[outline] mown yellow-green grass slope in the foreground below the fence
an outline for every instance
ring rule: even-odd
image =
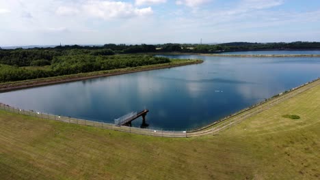
[[[139,136],[5,111],[0,124],[0,179],[320,178],[320,86],[216,136]]]

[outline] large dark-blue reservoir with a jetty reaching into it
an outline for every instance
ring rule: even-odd
[[[167,57],[204,63],[0,93],[0,102],[109,123],[146,106],[150,127],[185,129],[320,76],[320,58]]]

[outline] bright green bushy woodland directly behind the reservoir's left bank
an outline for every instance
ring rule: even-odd
[[[113,70],[124,67],[137,67],[169,62],[170,59],[168,58],[153,57],[151,55],[65,55],[53,57],[51,66],[44,69],[0,64],[0,82],[63,76],[82,72]]]

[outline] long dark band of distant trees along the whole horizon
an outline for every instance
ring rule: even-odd
[[[250,43],[231,42],[225,44],[158,44],[126,45],[105,44],[104,46],[56,46],[55,48],[0,49],[0,63],[21,66],[50,65],[54,57],[69,55],[115,55],[147,52],[202,52],[217,53],[239,50],[297,50],[320,49],[320,42]]]

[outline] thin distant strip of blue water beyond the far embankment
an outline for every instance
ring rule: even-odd
[[[257,50],[221,52],[224,55],[320,55],[320,50]]]

